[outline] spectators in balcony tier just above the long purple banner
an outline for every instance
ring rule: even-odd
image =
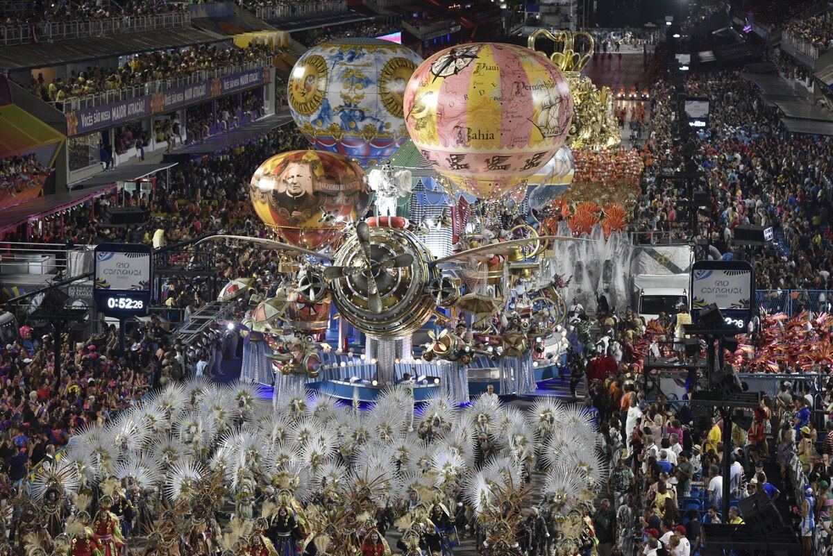
[[[47,82],[42,73],[33,77],[28,90],[46,102],[66,102],[95,94],[115,92],[129,87],[190,77],[197,72],[211,72],[272,57],[273,47],[251,44],[246,48],[197,47],[137,54],[118,67],[87,66],[72,70],[67,77]]]

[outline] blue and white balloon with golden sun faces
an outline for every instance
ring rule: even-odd
[[[378,164],[408,139],[402,97],[421,62],[395,42],[323,42],[292,68],[287,85],[292,118],[314,148],[355,158],[363,167]]]

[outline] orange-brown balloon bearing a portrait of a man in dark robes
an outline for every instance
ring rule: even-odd
[[[327,151],[288,151],[263,162],[249,184],[264,224],[295,246],[332,243],[348,221],[364,216],[370,187],[361,166]]]

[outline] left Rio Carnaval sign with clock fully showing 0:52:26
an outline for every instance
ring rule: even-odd
[[[147,315],[151,302],[151,246],[102,243],[96,247],[93,298],[97,310],[123,320]]]

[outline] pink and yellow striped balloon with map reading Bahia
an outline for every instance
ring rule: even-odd
[[[442,176],[481,198],[515,188],[566,139],[570,86],[544,55],[511,44],[437,52],[405,92],[405,122]]]

